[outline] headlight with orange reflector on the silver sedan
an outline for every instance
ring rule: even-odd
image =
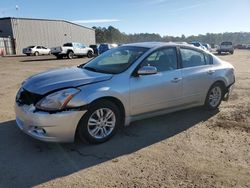
[[[36,108],[46,111],[62,110],[69,107],[68,103],[79,92],[80,90],[75,88],[57,91],[41,99],[36,104]]]

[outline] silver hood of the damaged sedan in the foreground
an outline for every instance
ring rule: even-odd
[[[61,68],[29,77],[24,81],[23,88],[44,95],[53,90],[101,82],[111,77],[112,74],[92,72],[78,67]]]

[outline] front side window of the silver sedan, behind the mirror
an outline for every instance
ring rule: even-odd
[[[177,55],[175,48],[160,49],[150,54],[141,64],[154,66],[158,72],[177,69]]]

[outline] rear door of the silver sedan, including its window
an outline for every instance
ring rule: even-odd
[[[183,78],[183,103],[200,103],[205,100],[213,83],[215,70],[210,55],[192,48],[180,47]]]

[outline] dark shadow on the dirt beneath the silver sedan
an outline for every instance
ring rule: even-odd
[[[119,164],[117,157],[173,137],[216,113],[193,108],[137,121],[99,145],[40,142],[22,133],[14,120],[2,122],[0,187],[31,187],[106,161]]]

